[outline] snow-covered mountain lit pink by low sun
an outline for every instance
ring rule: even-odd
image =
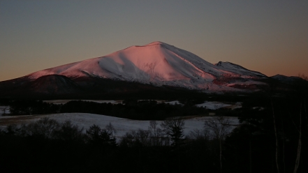
[[[162,42],[131,46],[104,57],[31,73],[25,78],[37,80],[45,75],[64,75],[71,80],[96,77],[207,92],[243,91],[243,86],[265,84],[258,80],[266,77],[234,63],[209,63],[196,54]]]

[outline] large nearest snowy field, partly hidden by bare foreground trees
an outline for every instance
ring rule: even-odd
[[[47,114],[47,115],[25,115],[25,116],[0,116],[0,128],[6,128],[9,124],[22,124],[22,123],[31,123],[41,119],[43,117],[49,117],[50,119],[55,119],[60,123],[63,123],[66,120],[71,121],[73,124],[76,124],[80,127],[83,127],[85,130],[91,125],[96,124],[101,128],[105,128],[106,125],[112,123],[112,126],[117,130],[117,137],[122,137],[126,132],[131,130],[148,130],[149,121],[138,121],[131,119],[122,119],[113,116],[105,116],[100,114],[86,114],[86,113],[64,113],[64,114]],[[228,117],[230,124],[237,125],[239,122],[237,117]],[[212,116],[203,116],[203,117],[192,117],[185,120],[185,129],[184,134],[189,135],[189,132],[198,128],[202,130],[204,126],[204,121],[213,121]],[[161,124],[162,121],[157,121],[158,124]],[[231,126],[234,128],[235,126]]]

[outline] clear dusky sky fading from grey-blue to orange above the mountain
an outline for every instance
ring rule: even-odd
[[[308,1],[0,1],[0,81],[156,40],[210,63],[308,75]]]

